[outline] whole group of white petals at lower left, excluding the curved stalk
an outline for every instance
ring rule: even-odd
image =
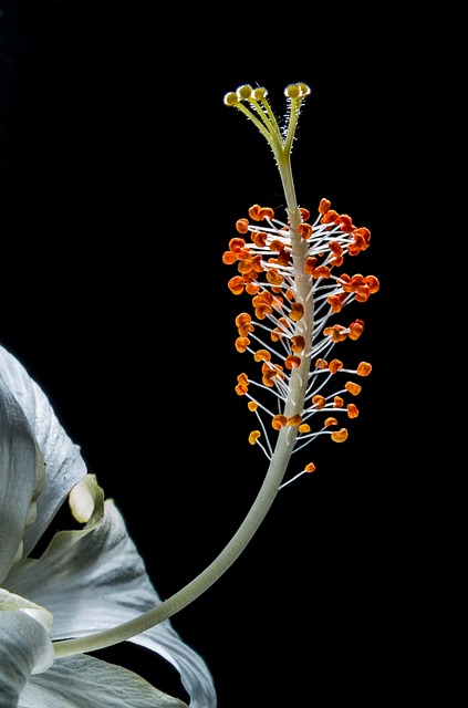
[[[77,528],[34,548],[63,502]],[[132,621],[160,604],[112,500],[46,396],[0,346],[0,708],[187,706],[90,654],[54,659],[53,642]],[[190,708],[216,708],[211,675],[166,620],[131,642],[180,674]]]

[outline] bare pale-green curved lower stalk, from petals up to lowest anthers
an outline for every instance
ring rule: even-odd
[[[135,620],[91,636],[54,642],[55,658],[96,652],[129,639],[176,614],[208,590],[239,558],[273,503],[292,452],[293,440],[288,433],[291,430],[283,429],[280,433],[267,477],[250,511],[236,534],[210,565],[171,597]]]

